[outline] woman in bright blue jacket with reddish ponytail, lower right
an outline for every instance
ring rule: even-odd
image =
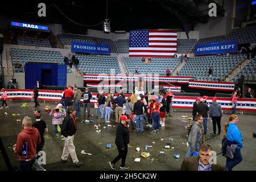
[[[242,134],[241,131],[237,127],[239,119],[236,114],[232,114],[229,117],[229,121],[225,123],[224,129],[224,139],[226,138],[226,144],[231,146],[232,144],[237,144],[236,150],[234,151],[233,159],[227,157],[226,158],[226,170],[232,171],[234,166],[241,163],[242,161],[242,154],[241,148],[243,147],[242,142]]]

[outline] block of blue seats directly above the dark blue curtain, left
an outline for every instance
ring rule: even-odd
[[[36,62],[36,63],[58,63],[64,64],[60,51],[45,51],[34,49],[11,48],[13,63]]]

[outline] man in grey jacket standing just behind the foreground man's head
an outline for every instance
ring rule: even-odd
[[[202,129],[203,116],[201,114],[196,115],[196,122],[193,124],[188,136],[188,152],[186,157],[192,156],[195,152],[199,152],[199,148],[202,142]]]

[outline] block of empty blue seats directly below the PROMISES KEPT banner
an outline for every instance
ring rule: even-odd
[[[193,76],[199,81],[223,81],[245,57],[245,55],[190,57],[179,73],[180,76]],[[210,67],[213,70],[213,77],[208,76]]]

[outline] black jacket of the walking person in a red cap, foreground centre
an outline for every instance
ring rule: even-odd
[[[121,122],[118,123],[115,144],[118,148],[125,148],[129,142],[129,130]]]

